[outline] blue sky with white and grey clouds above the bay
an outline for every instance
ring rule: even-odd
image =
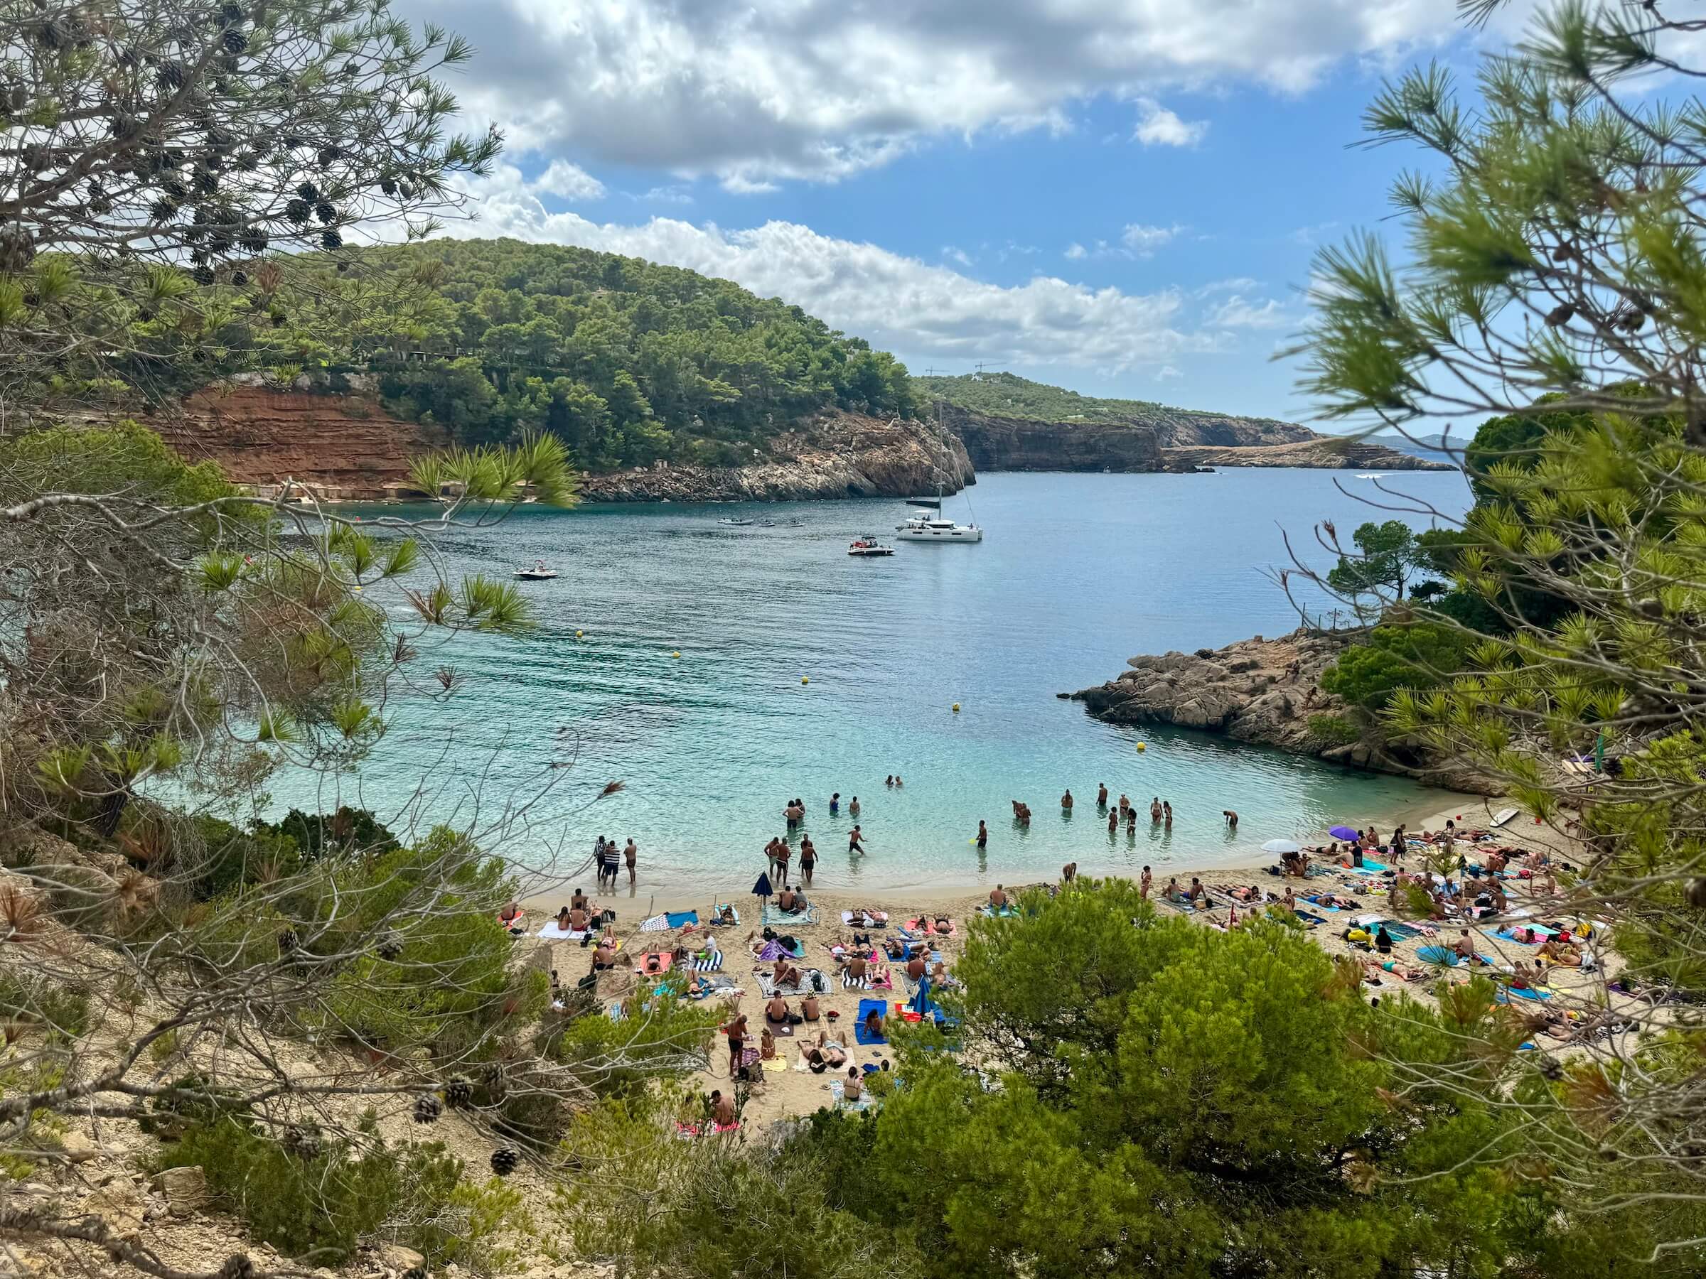
[[[781,297],[914,373],[1309,421],[1310,261],[1425,160],[1385,77],[1472,73],[1454,0],[396,0],[507,148],[457,235]],[[1384,223],[1384,227],[1382,227]]]

